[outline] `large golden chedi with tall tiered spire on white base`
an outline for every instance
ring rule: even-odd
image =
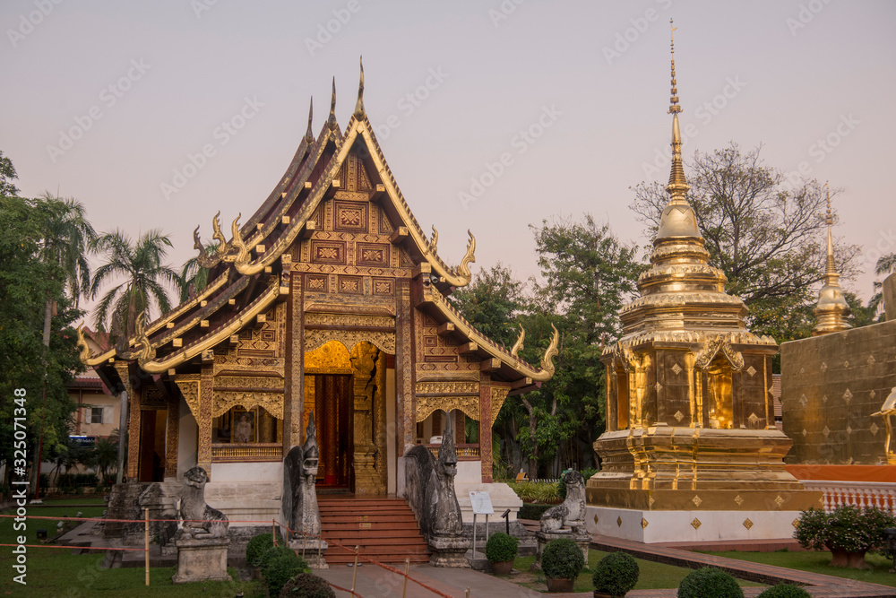
[[[788,538],[820,494],[784,469],[778,346],[746,329],[747,308],[709,264],[685,197],[674,54],[671,96],[669,201],[641,297],[622,308],[623,337],[601,358],[607,431],[594,443],[602,469],[587,482],[586,524],[641,542]]]

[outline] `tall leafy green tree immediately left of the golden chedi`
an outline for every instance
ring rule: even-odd
[[[555,473],[594,463],[591,443],[606,416],[602,344],[622,334],[618,311],[635,297],[645,266],[637,247],[587,214],[530,228],[544,282],[535,285],[527,319],[536,327],[553,323],[561,334],[554,377],[521,398],[529,414],[521,434],[528,434],[532,477],[538,460],[553,460]]]

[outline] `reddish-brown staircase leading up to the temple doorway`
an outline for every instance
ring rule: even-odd
[[[317,496],[321,534],[331,542],[324,558],[331,566],[354,561],[354,553],[334,546],[335,540],[383,563],[429,562],[429,550],[413,511],[401,498]]]

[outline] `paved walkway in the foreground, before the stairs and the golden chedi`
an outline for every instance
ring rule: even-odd
[[[605,536],[594,536],[591,547],[597,550],[625,550],[639,559],[652,560],[669,565],[686,568],[701,568],[704,566],[718,567],[736,575],[737,577],[773,585],[780,581],[793,581],[806,585],[806,590],[814,598],[896,598],[896,588],[885,585],[867,584],[865,582],[843,579],[835,576],[825,576],[814,573],[805,573],[788,568],[751,563],[745,560],[726,559],[706,554],[698,554],[689,550],[680,550],[655,544],[642,544]],[[403,568],[398,566],[398,568]],[[344,588],[352,586],[352,576],[355,570],[350,567],[338,566],[319,572],[327,581]],[[433,568],[428,565],[412,565],[410,576],[435,590],[452,596],[463,598],[467,588],[470,588],[470,596],[477,598],[535,598],[542,596],[535,590],[530,590],[512,581],[490,576],[472,569]],[[372,564],[365,564],[358,568],[355,588],[364,598],[383,597],[392,598],[401,596],[404,578]],[[754,598],[760,594],[762,588],[744,588],[746,598]],[[638,590],[626,594],[628,598],[675,598],[677,590]],[[336,593],[337,596],[349,596],[348,592]],[[424,587],[408,582],[408,598],[433,598],[438,594]],[[577,596],[584,598],[591,596],[591,592],[581,594],[550,594],[560,598]]]

